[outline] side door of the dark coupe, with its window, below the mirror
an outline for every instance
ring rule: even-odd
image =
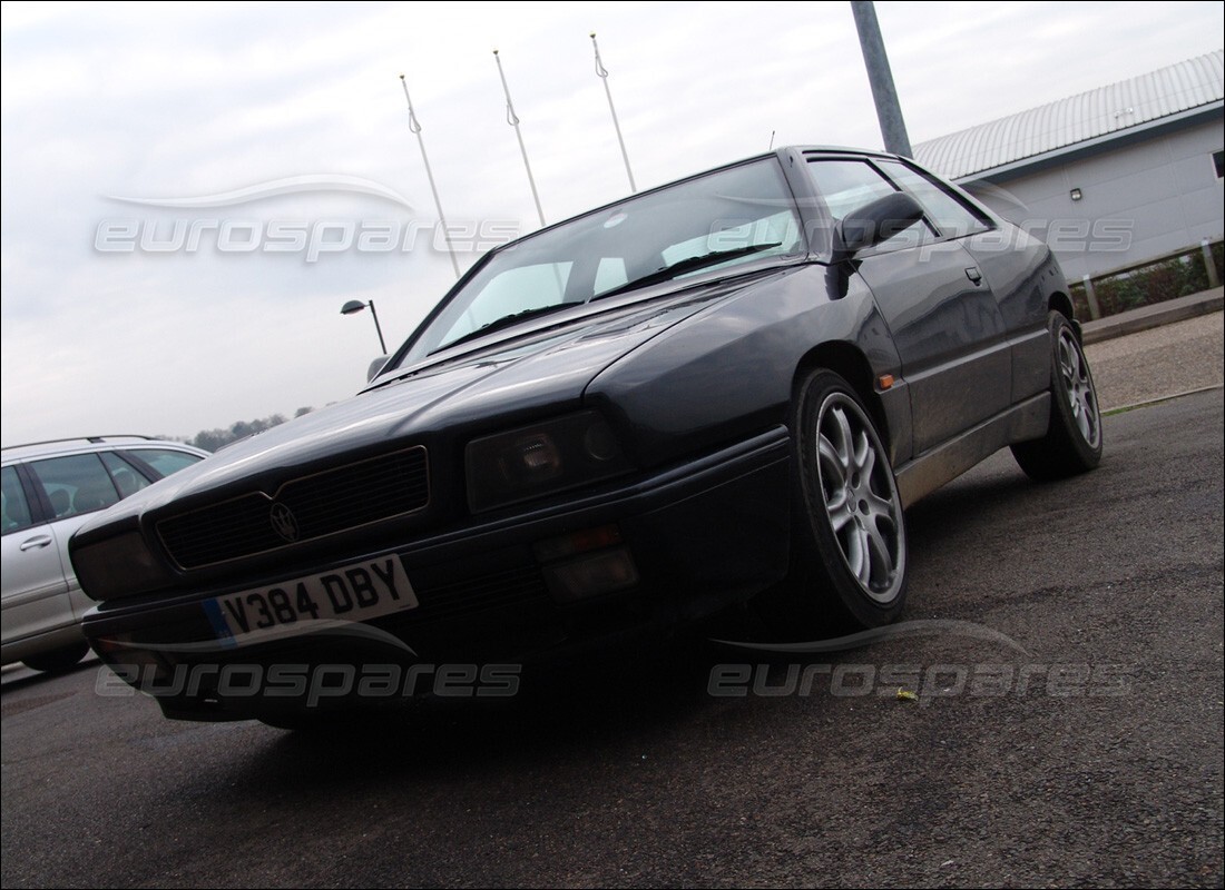
[[[903,189],[884,175],[887,163],[818,158],[809,162],[809,173],[838,222]],[[1003,411],[1012,400],[1012,359],[996,295],[960,244],[962,233],[942,225],[929,203],[920,200],[922,224],[851,261],[872,290],[902,359],[916,455]]]

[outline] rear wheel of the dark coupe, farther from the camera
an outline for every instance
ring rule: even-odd
[[[1030,479],[1050,480],[1091,470],[1101,462],[1101,411],[1089,361],[1072,322],[1051,312],[1051,421],[1046,435],[1012,447]]]

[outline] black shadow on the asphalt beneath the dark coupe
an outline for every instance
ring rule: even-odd
[[[687,638],[582,666],[527,670],[511,699],[414,699],[393,712],[350,714],[306,731],[252,728],[252,739],[258,732],[267,743],[232,764],[229,781],[209,793],[255,796],[279,807],[381,793],[388,785],[500,782],[554,769],[577,776],[646,760],[646,752],[679,743],[734,748],[795,709],[823,722],[846,703],[822,690],[822,679],[813,694],[758,694],[755,687],[720,695],[712,692],[717,671],[733,665],[752,672],[751,682],[779,689],[789,672],[820,665],[817,676],[828,687],[831,671],[842,665],[898,660],[904,651],[908,644],[884,641],[845,651],[769,653]]]

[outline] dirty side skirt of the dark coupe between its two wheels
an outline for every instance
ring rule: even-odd
[[[1051,394],[1039,393],[920,454],[897,470],[902,506],[909,507],[1005,446],[1040,438],[1050,419]]]

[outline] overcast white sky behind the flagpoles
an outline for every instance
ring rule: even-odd
[[[1219,49],[1223,10],[877,2],[913,143]],[[491,50],[556,222],[628,191],[590,31],[639,189],[766,151],[772,133],[882,144],[842,0],[5,2],[4,443],[190,437],[354,393],[377,339],[369,312],[341,305],[372,299],[391,345],[454,278],[430,247],[398,75],[448,222],[527,233],[537,214]],[[219,206],[116,200],[283,180],[290,193]],[[175,225],[197,229],[195,249],[175,247]],[[359,244],[397,228],[393,250]],[[348,235],[311,261],[314,237]]]

